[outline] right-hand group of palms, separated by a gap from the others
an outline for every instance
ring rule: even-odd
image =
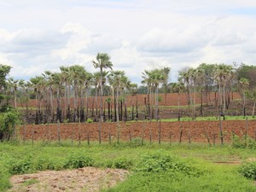
[[[241,92],[243,115],[246,116],[246,98],[253,100],[253,93],[256,90],[255,87],[249,90],[249,79],[238,78],[239,70],[240,68],[236,69],[231,65],[206,63],[196,68],[185,68],[179,72],[178,81],[172,84],[172,90],[178,94],[186,92],[191,117],[195,119],[196,97],[201,97],[201,115],[203,115],[203,102],[206,102],[207,105],[213,102],[216,115],[224,117],[225,110],[230,107],[232,93],[236,88]],[[214,101],[211,101],[211,92],[215,92]]]

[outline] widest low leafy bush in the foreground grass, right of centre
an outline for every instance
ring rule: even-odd
[[[202,171],[196,166],[167,154],[149,154],[137,165],[137,172],[181,172],[199,176]]]

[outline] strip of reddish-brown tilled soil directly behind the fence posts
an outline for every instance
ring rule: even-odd
[[[224,132],[224,143],[229,143],[232,138],[232,131],[238,136],[243,136],[246,132],[246,122],[242,120],[222,121]],[[195,122],[129,122],[120,123],[119,138],[121,141],[129,141],[131,138],[144,137],[149,141],[150,132],[152,141],[158,142],[159,130],[161,141],[178,142],[183,129],[182,142],[189,143],[207,143],[207,137],[210,142],[220,143],[219,137],[219,122],[218,121],[195,121]],[[26,140],[51,140],[58,139],[58,125],[26,125],[20,127],[20,137]],[[248,121],[248,136],[255,137],[256,121]],[[81,140],[86,142],[88,137],[90,141],[98,141],[98,124],[97,123],[81,123],[80,124]],[[207,136],[206,136],[207,134]],[[79,124],[61,124],[60,125],[60,138],[61,140],[79,139]],[[112,141],[117,138],[117,123],[102,123],[102,141],[108,142],[109,137]]]

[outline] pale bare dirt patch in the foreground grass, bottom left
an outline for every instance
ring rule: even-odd
[[[128,171],[84,167],[75,170],[44,171],[10,178],[13,192],[99,191],[123,181]]]

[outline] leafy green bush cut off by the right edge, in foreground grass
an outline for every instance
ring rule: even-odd
[[[256,180],[256,161],[243,163],[239,168],[239,172],[244,177]]]

